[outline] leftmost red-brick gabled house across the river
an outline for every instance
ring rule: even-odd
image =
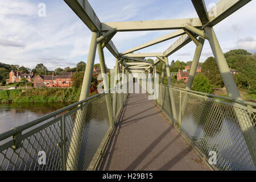
[[[9,73],[9,79],[6,80],[6,84],[14,83],[14,82],[20,82],[22,80],[22,78],[26,77],[26,80],[31,82],[32,78],[34,78],[34,73],[30,72],[29,74],[27,73],[23,73],[20,71],[11,71]]]

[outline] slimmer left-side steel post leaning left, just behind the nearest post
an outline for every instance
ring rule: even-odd
[[[97,49],[98,49],[98,59],[100,59],[100,66],[101,66],[101,73],[106,74],[106,64],[105,64],[105,57],[104,57],[104,52],[101,47],[101,43],[97,44]],[[109,82],[108,82],[108,77],[102,77],[102,81],[104,84],[104,90],[105,92],[108,92],[109,90]],[[113,111],[112,111],[112,103],[111,103],[111,96],[110,93],[106,93],[106,106],[108,109],[108,115],[109,115],[109,123],[110,123],[110,128],[113,127]]]

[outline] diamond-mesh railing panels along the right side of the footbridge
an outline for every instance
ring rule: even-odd
[[[212,94],[159,86],[155,104],[210,165],[219,170],[256,170],[255,104]],[[174,103],[171,104],[171,94]],[[174,109],[176,116],[174,117]],[[210,153],[213,151],[213,153]],[[210,157],[216,154],[216,160]]]

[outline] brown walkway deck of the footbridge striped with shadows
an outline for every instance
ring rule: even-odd
[[[100,170],[209,170],[146,94],[130,94]]]

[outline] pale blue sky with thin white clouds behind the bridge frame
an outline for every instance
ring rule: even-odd
[[[217,3],[205,0],[207,9]],[[45,16],[39,16],[46,5]],[[198,18],[190,0],[89,0],[101,22]],[[242,48],[256,52],[256,1],[251,1],[214,26],[223,52]],[[126,51],[175,30],[117,32],[112,39],[119,52]],[[49,70],[76,67],[88,56],[92,32],[63,0],[0,0],[0,62],[35,68],[43,63]],[[136,52],[164,52],[177,38]],[[191,61],[193,42],[168,57]],[[108,68],[115,57],[104,48]],[[200,62],[213,56],[206,40]],[[154,57],[152,59],[155,60]],[[99,63],[96,53],[95,63]]]

